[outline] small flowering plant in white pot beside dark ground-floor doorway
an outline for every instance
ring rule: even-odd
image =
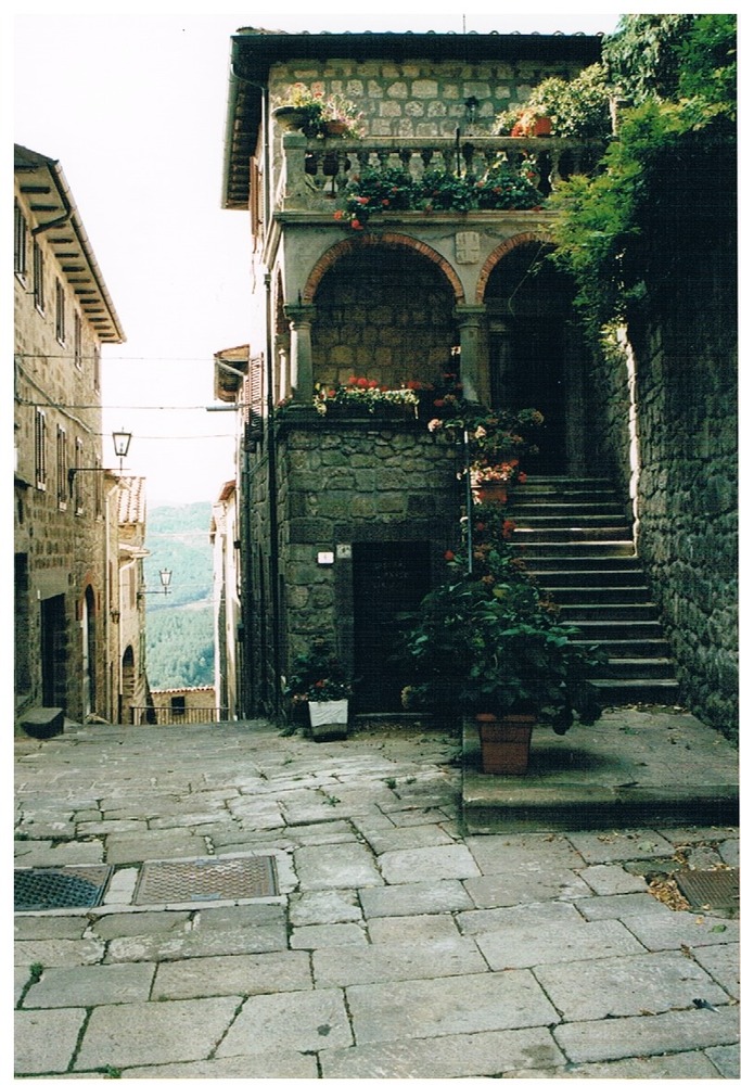
[[[316,640],[308,652],[293,662],[284,692],[294,706],[308,705],[315,739],[347,735],[352,682],[328,641]]]

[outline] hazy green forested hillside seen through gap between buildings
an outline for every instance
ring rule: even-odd
[[[152,689],[214,681],[210,518],[207,501],[148,510],[146,673]],[[162,592],[161,569],[173,571],[166,596],[156,593]]]

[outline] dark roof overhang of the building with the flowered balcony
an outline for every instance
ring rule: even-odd
[[[250,161],[259,138],[264,95],[270,68],[289,60],[354,61],[385,59],[394,62],[539,60],[546,63],[599,61],[602,35],[587,34],[284,34],[244,27],[232,35],[231,66],[225,133],[222,206],[246,208],[250,199]],[[267,105],[267,102],[265,103]]]

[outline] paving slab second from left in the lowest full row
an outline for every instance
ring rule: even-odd
[[[90,1014],[74,1069],[205,1059],[229,1027],[241,1001],[225,997],[98,1006]]]

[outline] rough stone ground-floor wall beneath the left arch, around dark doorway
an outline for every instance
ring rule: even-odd
[[[330,421],[311,409],[294,408],[280,422],[277,508],[283,674],[319,636],[335,643],[352,668],[354,544],[418,542],[420,552],[431,556],[433,576],[443,576],[445,551],[458,542],[457,455],[455,445],[433,439],[422,421]],[[257,702],[261,689],[273,680],[270,570],[267,551],[257,541],[268,537],[267,468],[263,458],[251,480],[248,560],[255,582],[256,650],[251,685]],[[268,625],[260,629],[259,621]],[[258,659],[264,653],[265,659]]]

